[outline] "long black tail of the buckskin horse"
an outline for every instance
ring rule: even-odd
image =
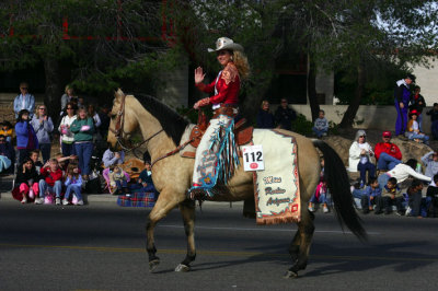
[[[324,155],[324,175],[341,226],[345,224],[360,241],[367,241],[367,232],[353,207],[349,179],[343,161],[324,141],[313,140],[313,144]]]

